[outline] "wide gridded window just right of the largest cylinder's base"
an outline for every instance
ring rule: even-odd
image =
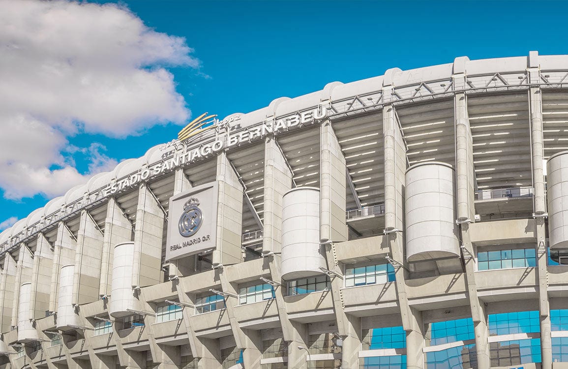
[[[478,270],[532,268],[536,267],[536,251],[534,248],[479,251],[477,261]]]

